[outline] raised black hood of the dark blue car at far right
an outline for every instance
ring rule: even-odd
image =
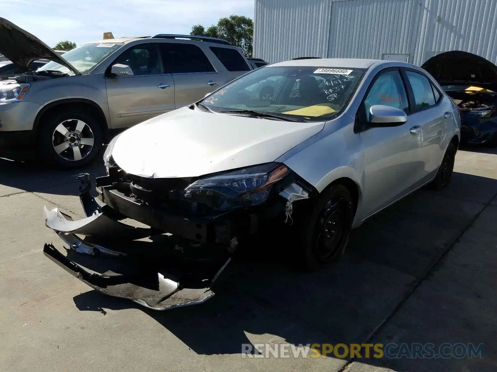
[[[424,62],[440,85],[478,86],[497,92],[497,66],[476,54],[451,51],[438,54]]]

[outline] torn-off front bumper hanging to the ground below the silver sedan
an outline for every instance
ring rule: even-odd
[[[101,293],[154,310],[201,304],[214,296],[211,287],[231,260],[225,248],[124,224],[122,215],[96,203],[83,177],[80,199],[86,218],[73,221],[58,209],[44,208],[47,227],[66,246],[63,251],[45,244],[47,257]]]

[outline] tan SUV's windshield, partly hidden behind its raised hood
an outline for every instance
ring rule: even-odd
[[[64,53],[62,58],[71,63],[82,74],[89,72],[96,64],[102,62],[105,57],[114,52],[116,49],[122,47],[122,43],[94,43],[84,44],[81,47],[70,50]],[[43,67],[38,68],[37,71],[44,70],[57,70],[65,72],[69,75],[74,75],[66,66],[57,62],[48,62]]]

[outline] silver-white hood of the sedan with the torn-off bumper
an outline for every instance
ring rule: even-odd
[[[184,107],[122,132],[112,157],[123,171],[141,177],[198,177],[272,162],[324,126]]]

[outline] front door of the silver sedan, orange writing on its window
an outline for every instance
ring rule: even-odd
[[[384,69],[375,76],[357,120],[369,122],[369,109],[373,105],[404,110],[408,121],[391,127],[368,127],[360,132],[364,159],[361,219],[407,194],[420,167],[420,131],[412,129],[415,122],[411,119],[406,85],[398,68]]]

